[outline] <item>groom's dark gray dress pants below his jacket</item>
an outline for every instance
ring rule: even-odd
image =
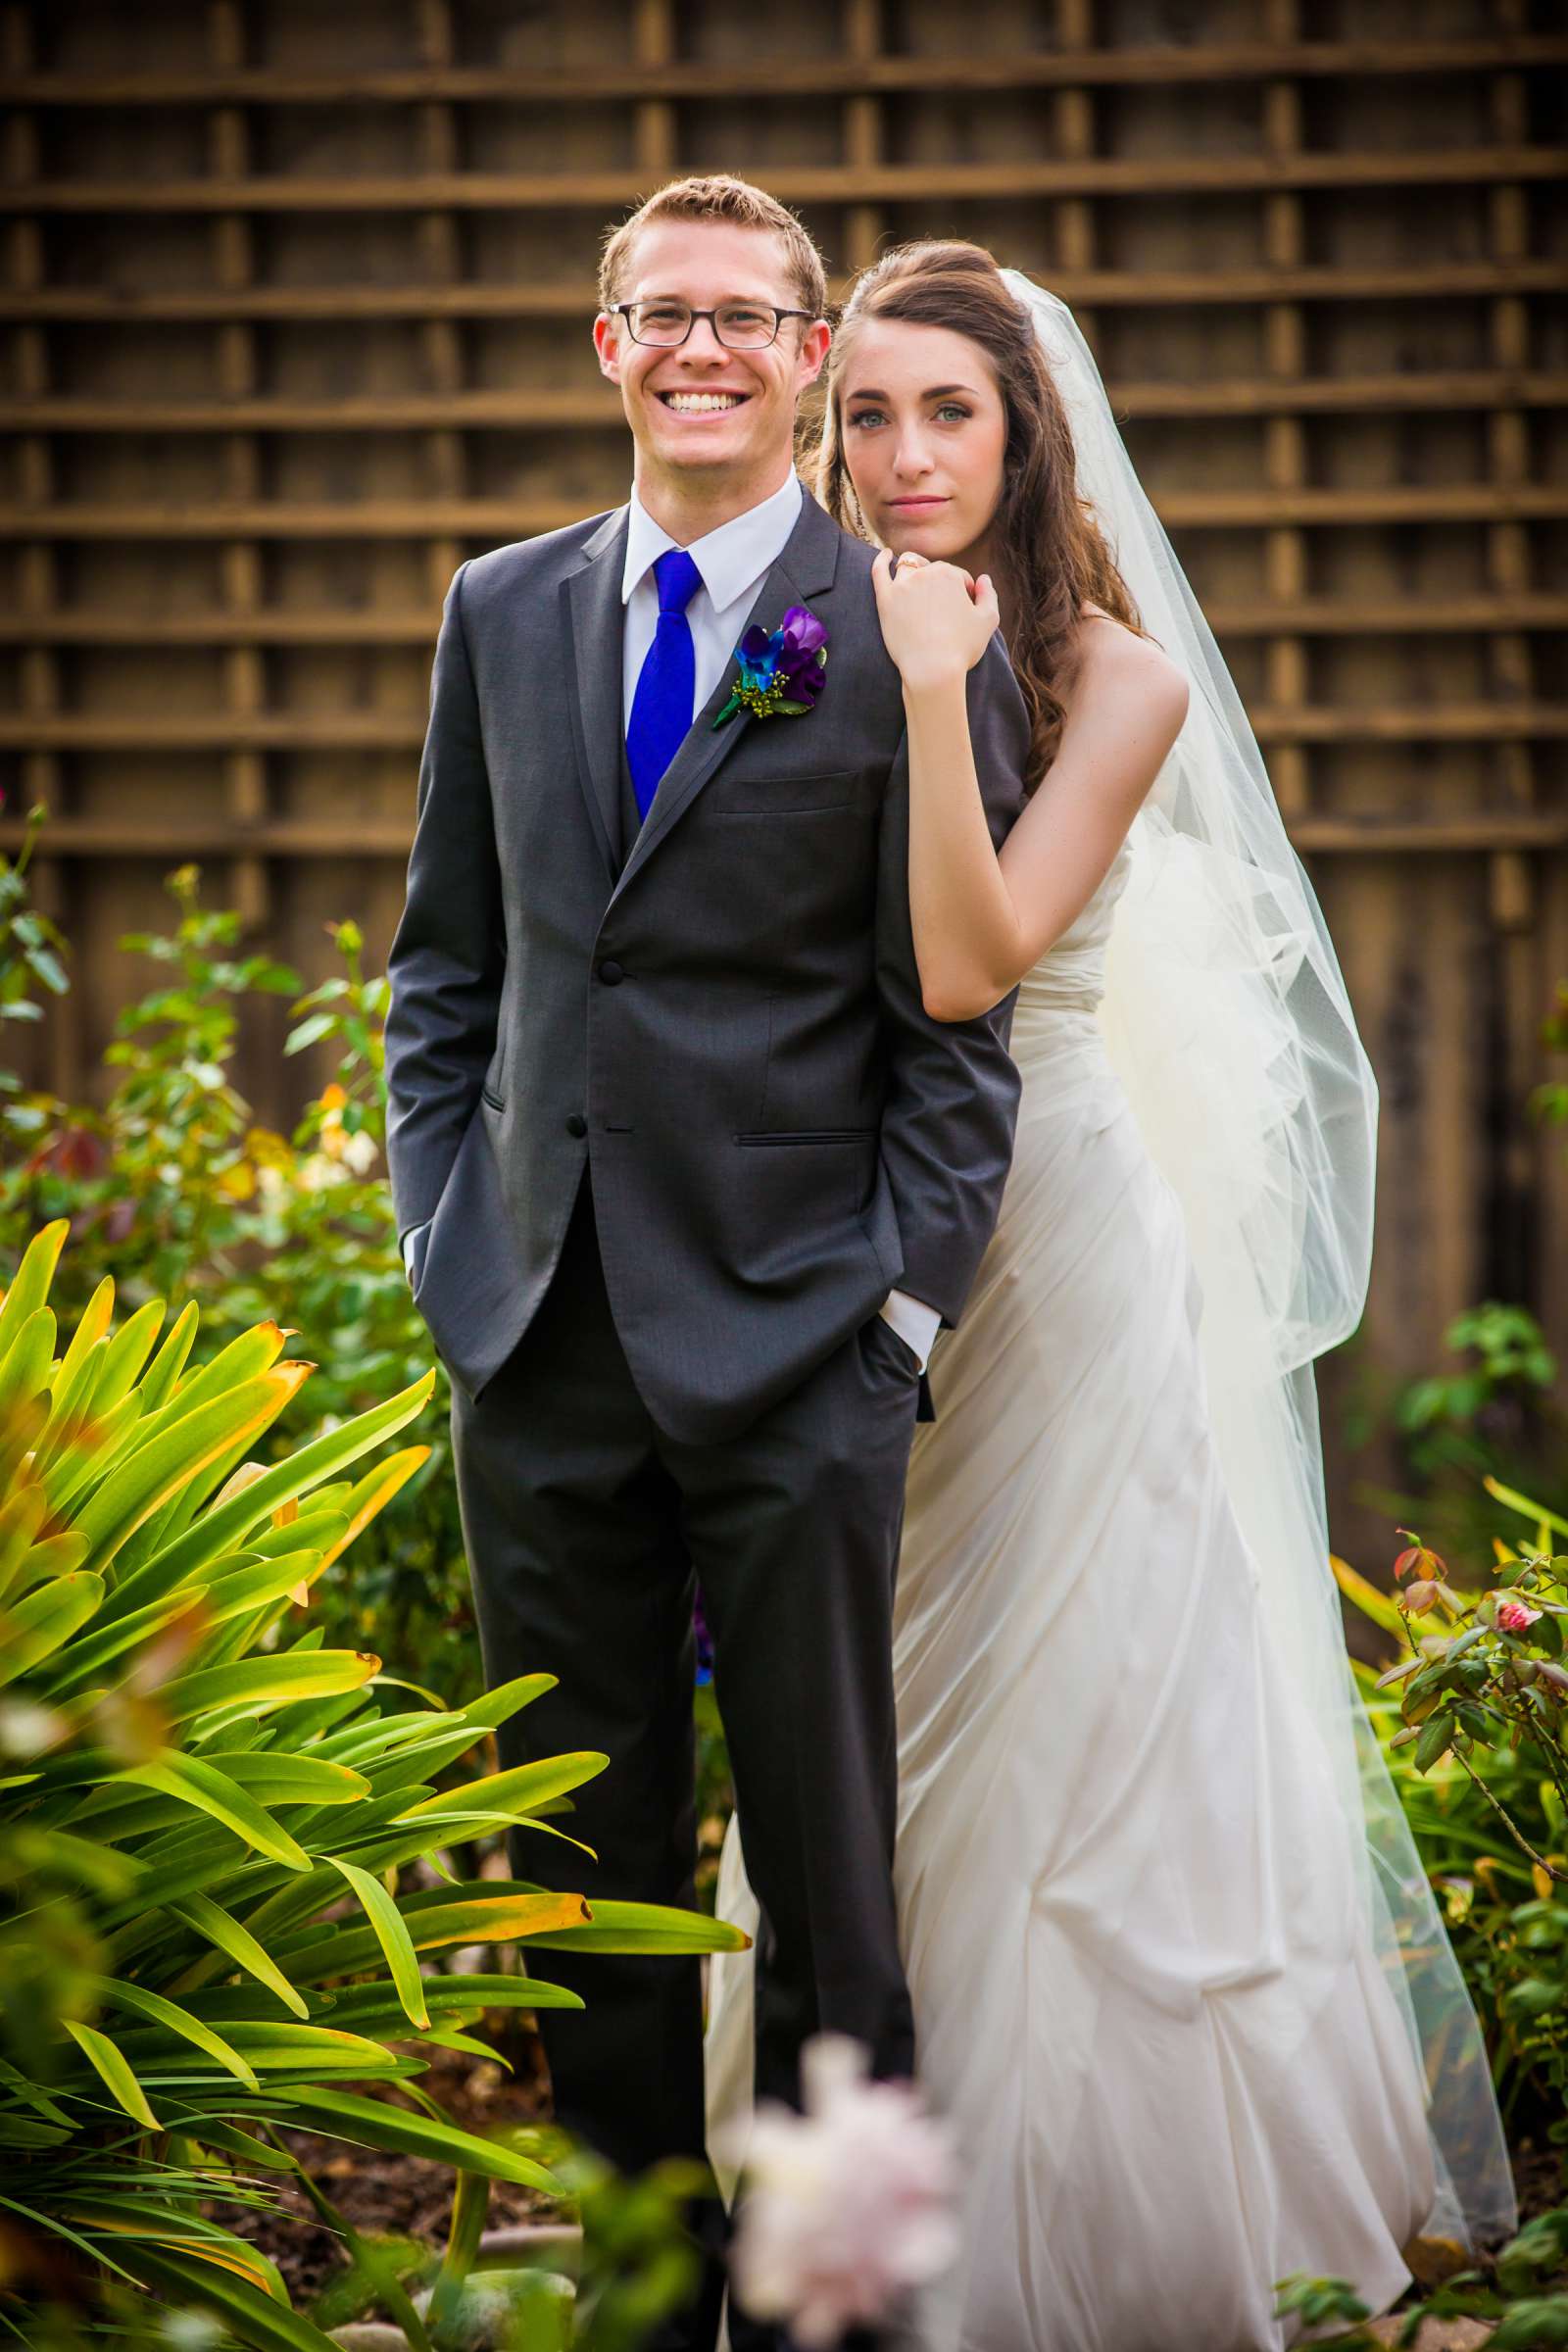
[[[679,1301],[672,1303],[679,1310]],[[498,1733],[503,1766],[602,1750],[517,1877],[642,1903],[693,1900],[693,1578],[762,1905],[757,2096],[799,2103],[799,2046],[865,2042],[914,2063],[893,1905],[891,1609],[917,1367],[872,1317],[741,1437],[665,1437],[609,1312],[588,1178],[538,1315],[451,1437],[484,1675],[557,1689]],[[585,2009],[543,2011],[557,2119],[623,2171],[703,2154],[696,1959],[541,1952]],[[712,2312],[672,2345],[703,2352]],[[731,2319],[736,2352],[778,2343]]]

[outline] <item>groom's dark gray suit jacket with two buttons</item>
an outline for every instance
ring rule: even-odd
[[[618,858],[625,510],[468,562],[447,595],[386,1025],[400,1237],[454,1378],[505,1362],[592,1171],[621,1345],[677,1439],[738,1435],[889,1289],[957,1322],[997,1221],[1011,997],[922,1009],[907,743],[872,553],[804,499],[755,621],[809,604],[806,717],[733,717],[733,663]],[[992,837],[1027,717],[969,689]]]

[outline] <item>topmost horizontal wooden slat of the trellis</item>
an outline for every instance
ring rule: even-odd
[[[1058,85],[1164,87],[1171,82],[1260,82],[1274,73],[1356,75],[1403,80],[1406,75],[1467,75],[1497,66],[1568,64],[1568,40],[1554,33],[1502,35],[1495,40],[1305,40],[1145,45],[1126,49],[1056,47],[997,54],[954,52],[945,56],[811,56],[757,54],[743,66],[710,66],[682,59],[668,66],[628,68],[616,56],[585,73],[581,68],[529,66],[433,66],[369,68],[364,73],[299,73],[252,68],[247,73],[33,73],[12,82],[19,106],[416,106],[428,99],[571,106],[614,99],[785,99],[842,96],[853,89],[985,94],[1051,89]]]

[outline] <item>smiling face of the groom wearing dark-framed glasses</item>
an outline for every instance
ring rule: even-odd
[[[651,221],[632,245],[621,301],[726,301],[797,310],[785,254],[766,228],[729,221]],[[733,480],[780,473],[795,447],[795,409],[827,358],[823,320],[788,318],[762,350],[726,350],[712,320],[691,322],[675,350],[635,343],[625,318],[595,320],[599,367],[621,386],[639,470]]]

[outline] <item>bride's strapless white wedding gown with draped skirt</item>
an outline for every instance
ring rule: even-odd
[[[1095,1016],[1126,868],[1020,988],[1001,1221],[910,1461],[896,1877],[964,2232],[919,2352],[1281,2347],[1276,2279],[1382,2310],[1434,2201],[1410,2030],[1220,1475],[1182,1214]],[[757,1917],[733,1823],[717,1907]],[[748,1957],[715,1969],[708,2082],[729,2190]]]

